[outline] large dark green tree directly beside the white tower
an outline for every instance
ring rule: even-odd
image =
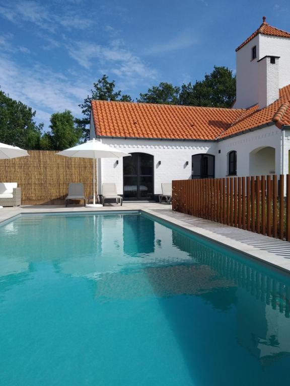
[[[210,74],[195,84],[183,84],[179,104],[184,106],[230,108],[236,97],[236,76],[227,67],[214,66]]]

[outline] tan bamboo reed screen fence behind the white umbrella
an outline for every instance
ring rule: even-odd
[[[92,160],[29,150],[29,157],[0,160],[0,182],[17,182],[23,205],[63,204],[69,182],[83,182],[92,194]]]

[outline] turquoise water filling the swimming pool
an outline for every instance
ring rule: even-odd
[[[0,226],[1,386],[290,380],[289,276],[138,214]]]

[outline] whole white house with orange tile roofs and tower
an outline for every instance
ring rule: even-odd
[[[124,200],[173,179],[289,173],[290,33],[261,26],[237,49],[232,109],[92,101],[91,138],[131,157],[98,163]]]

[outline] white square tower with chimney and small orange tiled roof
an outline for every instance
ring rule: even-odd
[[[234,108],[259,104],[262,109],[279,97],[279,88],[290,84],[290,33],[260,27],[237,49],[237,98]]]

